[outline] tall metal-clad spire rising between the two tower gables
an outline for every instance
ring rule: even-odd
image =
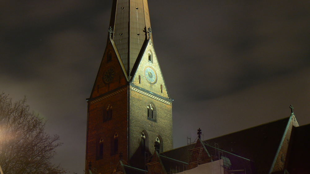
[[[149,37],[151,29],[147,0],[113,0],[110,26],[112,39],[121,56],[127,74],[130,74],[137,57]]]

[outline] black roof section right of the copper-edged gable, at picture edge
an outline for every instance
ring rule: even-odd
[[[290,174],[302,174],[309,172],[310,161],[310,124],[293,127],[288,154],[287,170]]]

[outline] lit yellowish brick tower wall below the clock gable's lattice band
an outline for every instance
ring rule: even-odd
[[[147,117],[147,106],[150,103],[154,104],[156,108],[156,121],[149,120]],[[162,138],[163,151],[173,148],[171,105],[164,104],[138,92],[130,91],[129,112],[129,158],[138,158],[140,152],[138,149],[143,130],[148,134],[148,149],[150,154],[154,152],[154,142],[158,135]]]

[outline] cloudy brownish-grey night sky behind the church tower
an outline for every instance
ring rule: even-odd
[[[5,1],[0,91],[28,98],[64,144],[53,160],[83,173],[86,98],[112,0]],[[310,2],[150,0],[154,46],[173,103],[174,147],[290,116],[310,123]]]

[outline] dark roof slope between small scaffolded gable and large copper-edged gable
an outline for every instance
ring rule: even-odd
[[[209,145],[254,161],[258,173],[268,173],[290,117],[206,140]]]

